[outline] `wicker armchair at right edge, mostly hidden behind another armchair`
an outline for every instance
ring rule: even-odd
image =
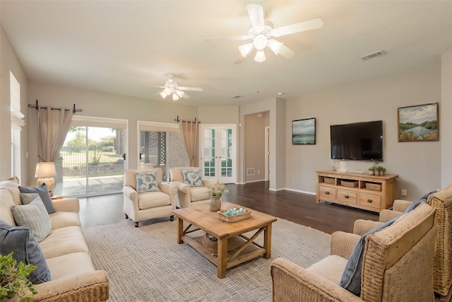
[[[434,291],[449,301],[452,295],[452,185],[429,196],[428,203],[436,209],[435,226],[438,228],[434,251]],[[403,214],[412,202],[396,199],[392,210],[383,210],[379,220],[386,222]],[[378,222],[355,221],[353,233],[362,234]],[[447,296],[447,298],[446,298]]]

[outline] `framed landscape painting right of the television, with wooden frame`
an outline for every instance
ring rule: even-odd
[[[438,103],[398,108],[398,141],[439,141]]]

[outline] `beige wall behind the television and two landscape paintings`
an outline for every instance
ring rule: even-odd
[[[316,192],[316,170],[331,170],[330,125],[383,120],[383,165],[388,174],[398,174],[396,197],[408,190],[405,199],[415,200],[441,187],[441,141],[398,142],[397,108],[425,103],[441,103],[441,65],[434,64],[403,74],[353,83],[286,103],[286,135],[292,120],[316,117],[316,145],[295,145],[286,140],[286,187]],[[440,117],[448,112],[440,108]],[[451,129],[450,127],[448,129]],[[449,140],[450,142],[450,140]],[[367,171],[367,161],[341,161],[350,172]]]

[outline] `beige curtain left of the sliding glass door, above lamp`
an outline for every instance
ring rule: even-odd
[[[40,161],[56,161],[71,125],[72,110],[40,108],[37,156]]]

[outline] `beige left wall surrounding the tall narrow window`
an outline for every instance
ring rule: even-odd
[[[9,71],[20,83],[20,111],[25,115],[25,123],[28,123],[27,93],[28,81],[22,66],[14,52],[11,42],[8,40],[2,26],[0,26],[0,180],[11,176],[11,96],[9,91]],[[25,126],[20,133],[20,161],[22,163],[20,173],[22,178],[28,175],[26,153],[28,151],[28,127]],[[23,182],[23,179],[20,180]]]

